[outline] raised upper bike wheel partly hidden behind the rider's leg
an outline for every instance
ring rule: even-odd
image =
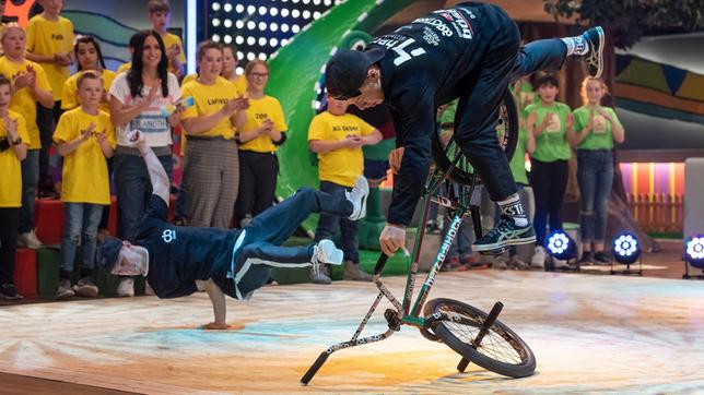
[[[496,125],[496,134],[498,144],[504,149],[506,158],[511,161],[516,151],[518,143],[518,109],[511,91],[506,88],[506,93],[498,106],[498,123]],[[472,184],[474,169],[471,166],[469,158],[465,156],[459,149],[454,139],[450,139],[447,145],[443,144],[441,137],[441,130],[433,133],[433,161],[435,166],[443,172],[446,172],[455,161],[459,154],[457,166],[449,173],[449,179],[464,185]]]

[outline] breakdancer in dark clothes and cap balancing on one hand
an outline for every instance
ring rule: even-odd
[[[131,132],[131,145],[144,158],[153,194],[133,240],[108,238],[98,263],[119,276],[143,275],[160,298],[178,298],[204,289],[214,321],[207,330],[225,330],[225,297],[248,299],[269,279],[271,267],[340,265],[342,251],[330,240],[305,247],[280,247],[312,213],[352,220],[366,214],[368,185],[360,177],[345,196],[310,188],[257,215],[244,229],[179,227],[166,222],[169,182],[144,134]]]

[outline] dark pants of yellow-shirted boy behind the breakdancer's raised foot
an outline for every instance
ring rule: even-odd
[[[338,199],[345,199],[344,192],[351,191],[352,188],[343,187],[335,182],[320,181],[320,191],[329,193]],[[347,216],[337,216],[332,214],[320,214],[318,227],[315,229],[315,241],[322,239],[332,239],[340,229],[342,251],[344,260],[360,263],[360,222],[351,220]]]

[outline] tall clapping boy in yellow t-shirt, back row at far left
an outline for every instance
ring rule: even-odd
[[[39,149],[43,144],[37,128],[37,103],[50,108],[54,106],[54,95],[44,69],[25,58],[24,29],[16,23],[7,24],[0,40],[4,48],[4,56],[0,58],[0,74],[12,80],[14,89],[10,109],[24,117],[30,135],[27,156],[22,160],[22,215],[17,247],[38,249],[42,242],[34,232],[34,202],[39,181]],[[47,148],[50,143],[49,140]]]

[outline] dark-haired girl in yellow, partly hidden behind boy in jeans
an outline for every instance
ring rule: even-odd
[[[105,68],[105,59],[103,59],[103,51],[101,45],[92,36],[83,36],[75,40],[73,48],[79,67],[75,74],[71,75],[66,83],[63,83],[63,92],[61,93],[61,109],[68,111],[80,106],[78,84],[79,77],[83,75],[84,71],[93,71],[97,73],[103,80],[103,96],[101,97],[101,110],[110,112],[108,103],[108,91],[117,74]]]

